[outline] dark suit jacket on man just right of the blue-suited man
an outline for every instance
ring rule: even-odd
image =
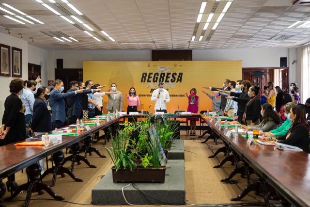
[[[75,90],[69,89],[68,93],[73,92]],[[84,90],[82,93],[79,93],[78,96],[73,96],[67,98],[67,103],[68,103],[68,118],[71,118],[73,116],[80,116],[82,112],[82,105],[80,103],[81,98],[79,96],[83,94],[90,94],[92,93],[92,89],[87,89]]]

